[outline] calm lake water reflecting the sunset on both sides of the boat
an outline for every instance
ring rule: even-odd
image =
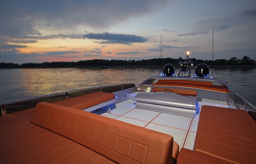
[[[0,69],[0,103],[100,85],[137,85],[158,73],[157,68]],[[214,69],[213,75],[256,104],[256,68]]]

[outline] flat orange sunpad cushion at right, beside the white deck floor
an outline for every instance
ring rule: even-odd
[[[194,149],[227,161],[256,163],[256,122],[245,110],[202,106]]]

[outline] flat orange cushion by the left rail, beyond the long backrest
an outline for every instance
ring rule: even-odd
[[[65,100],[60,100],[53,103],[63,105],[63,106],[73,107],[77,109],[85,109],[111,99],[114,99],[113,93],[106,93],[106,92],[99,91],[99,92],[93,92],[85,95],[80,95],[77,97],[67,98]]]

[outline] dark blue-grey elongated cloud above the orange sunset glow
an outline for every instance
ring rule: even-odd
[[[133,42],[145,42],[147,39],[141,36],[131,34],[115,34],[115,33],[87,33],[83,35],[88,39],[104,40],[99,43],[121,43],[131,44]]]

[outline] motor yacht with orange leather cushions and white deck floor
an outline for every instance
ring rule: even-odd
[[[179,58],[134,83],[0,104],[0,163],[256,163],[256,107]]]

